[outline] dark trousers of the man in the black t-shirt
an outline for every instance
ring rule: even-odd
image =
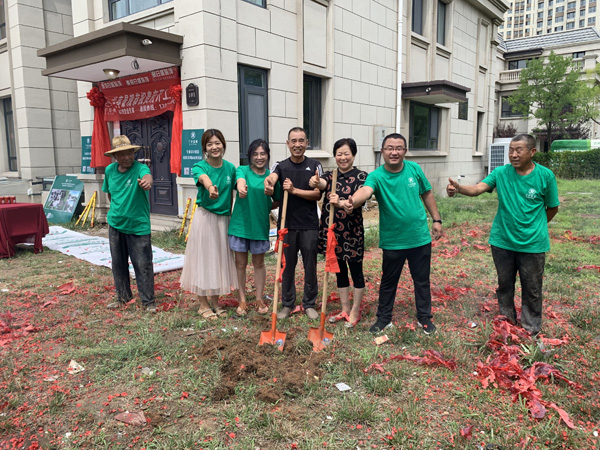
[[[302,306],[314,308],[317,301],[319,286],[317,284],[317,242],[318,230],[288,230],[284,242],[289,247],[284,248],[286,266],[281,279],[281,303],[293,308],[296,303],[296,264],[298,250],[302,255],[304,266],[304,296]]]

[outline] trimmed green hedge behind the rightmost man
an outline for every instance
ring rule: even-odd
[[[538,152],[533,160],[551,169],[559,178],[600,179],[600,149],[587,152]]]

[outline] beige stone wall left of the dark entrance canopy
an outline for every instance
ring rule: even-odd
[[[43,77],[37,50],[72,37],[71,2],[7,2],[7,52],[0,83],[12,85],[18,155],[23,179],[73,172],[80,165],[75,83]],[[2,89],[2,87],[0,87]],[[1,91],[0,91],[1,92]],[[7,170],[0,158],[0,172]]]

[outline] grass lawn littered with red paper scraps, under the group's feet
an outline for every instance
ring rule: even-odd
[[[484,388],[475,374],[478,362],[497,356],[488,345],[497,314],[487,245],[493,193],[438,199],[446,233],[432,254],[439,332],[416,328],[404,273],[394,328],[381,346],[368,333],[381,278],[377,248],[365,257],[361,322],[355,329],[327,324],[334,340],[320,353],[306,340],[315,324],[302,315],[278,322],[287,334],[283,352],[257,346],[270,318],[237,317],[234,294],[221,298],[228,317],[200,318],[194,296],[179,289],[180,271],[156,276],[167,311],[148,315],[130,304],[114,312],[105,308],[114,298],[110,270],[19,248],[0,260],[0,449],[600,448],[593,434],[600,420],[600,183],[559,180],[559,195],[544,285],[543,334],[555,341],[518,343],[518,364],[551,364],[577,383],[535,384],[573,428],[551,407],[534,419],[523,396],[493,383]],[[377,240],[370,231],[367,242]],[[153,244],[185,247],[176,230],[154,234]],[[272,294],[275,258],[266,263]],[[248,279],[250,289],[251,267]],[[299,269],[298,292],[301,283]],[[339,310],[334,282],[329,292],[332,313]],[[456,368],[410,359],[431,352]],[[398,355],[404,359],[388,360]],[[85,370],[69,374],[72,359]],[[340,392],[340,382],[352,389]],[[143,411],[149,422],[116,421],[124,411]]]

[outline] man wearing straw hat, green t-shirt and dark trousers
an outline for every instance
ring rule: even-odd
[[[142,308],[155,313],[148,199],[152,175],[148,166],[135,160],[134,153],[139,148],[139,145],[131,145],[127,136],[115,136],[112,150],[105,153],[117,160],[106,168],[102,185],[110,200],[108,240],[117,291],[117,300],[108,304],[107,308],[121,308],[133,298],[129,279],[130,258]]]

